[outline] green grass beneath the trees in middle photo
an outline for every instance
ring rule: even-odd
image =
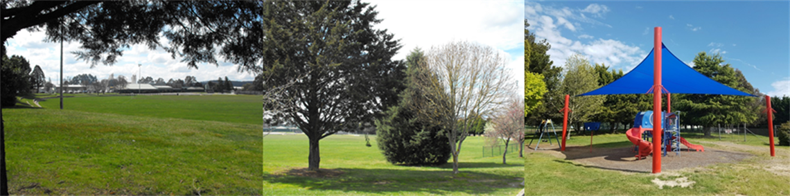
[[[340,173],[317,178],[299,175],[307,168],[308,142],[304,134],[263,138],[263,194],[265,195],[514,195],[523,187],[524,160],[510,152],[483,158],[482,137],[469,137],[459,158],[461,174],[452,164],[410,167],[389,164],[371,137],[333,135],[321,140],[321,168]],[[517,144],[516,144],[517,145]],[[452,159],[450,159],[452,162]]]

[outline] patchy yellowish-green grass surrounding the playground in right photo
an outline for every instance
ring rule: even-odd
[[[664,170],[658,175],[604,170],[563,160],[548,153],[525,154],[526,195],[788,195],[790,194],[790,146],[777,146],[777,156],[769,156],[768,138],[730,135],[719,141],[702,134],[683,134],[691,143],[751,153],[755,156],[736,163],[713,164],[702,168]],[[740,141],[737,141],[739,138]],[[529,142],[529,138],[528,138]],[[575,136],[567,145],[590,145],[589,135]],[[633,145],[625,134],[600,134],[593,138],[596,150]],[[543,146],[543,144],[541,144]],[[733,147],[735,146],[735,147]],[[525,152],[525,153],[526,153]],[[693,157],[689,157],[693,158]],[[773,171],[773,172],[772,172]],[[653,180],[686,177],[690,187],[664,187]]]

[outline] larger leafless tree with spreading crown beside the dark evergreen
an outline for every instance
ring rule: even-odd
[[[431,47],[425,61],[431,75],[416,85],[427,103],[416,103],[419,117],[442,126],[450,140],[453,173],[458,172],[461,144],[475,119],[491,115],[516,85],[510,80],[507,60],[493,47],[457,41]]]

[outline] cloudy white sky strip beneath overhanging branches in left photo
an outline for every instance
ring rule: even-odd
[[[55,85],[59,84],[60,77],[60,43],[51,43],[44,40],[44,32],[28,32],[21,30],[16,36],[9,39],[6,43],[6,55],[21,55],[30,62],[31,68],[36,65],[41,66],[44,76],[51,79]],[[160,43],[168,45],[167,39],[160,36]],[[63,43],[63,78],[74,77],[78,74],[92,74],[99,80],[106,79],[110,74],[115,77],[123,75],[127,80],[131,80],[132,74],[152,77],[154,80],[163,78],[164,81],[170,78],[183,80],[186,76],[194,76],[198,81],[223,79],[227,76],[231,81],[252,81],[254,74],[239,73],[238,66],[224,62],[221,58],[217,59],[217,64],[198,64],[198,69],[189,69],[186,62],[181,62],[181,58],[171,58],[170,54],[162,48],[154,51],[149,50],[145,45],[132,45],[123,51],[118,62],[111,66],[103,65],[101,62],[91,68],[90,62],[77,60],[72,51],[80,51],[80,43]],[[140,65],[138,67],[138,65]],[[139,77],[138,77],[139,78]]]

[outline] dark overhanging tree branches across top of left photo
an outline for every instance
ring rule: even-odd
[[[255,70],[262,57],[262,6],[249,0],[3,0],[0,41],[27,28],[47,32],[47,40],[81,43],[74,54],[92,65],[112,64],[124,48],[145,44],[181,56],[190,68],[216,64],[220,56],[239,70]],[[160,43],[160,36],[169,43]]]

